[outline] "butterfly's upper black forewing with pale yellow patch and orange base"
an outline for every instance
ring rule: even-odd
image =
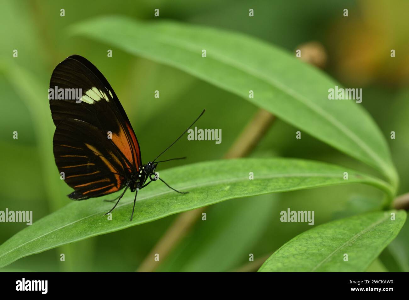
[[[111,132],[109,142],[124,156],[129,169],[139,171],[142,160],[135,132],[114,90],[97,67],[81,56],[70,56],[54,69],[50,89],[54,89],[50,108],[56,127],[64,120],[77,119],[104,134]],[[59,89],[69,92],[62,97]],[[73,94],[73,91],[78,94],[79,89],[81,101]]]

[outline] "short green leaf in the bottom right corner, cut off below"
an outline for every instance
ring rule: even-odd
[[[391,213],[396,220],[391,220]],[[405,220],[405,211],[391,210],[317,226],[285,243],[258,271],[363,272],[398,235]]]

